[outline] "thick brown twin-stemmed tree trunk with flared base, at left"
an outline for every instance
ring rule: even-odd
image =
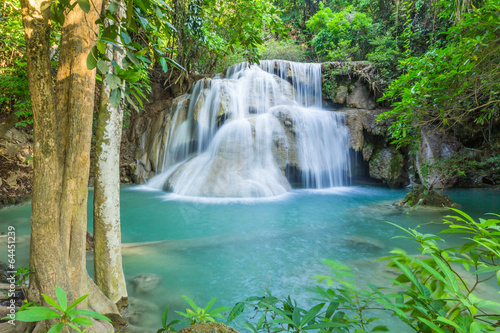
[[[46,0],[21,1],[34,119],[30,267],[35,274],[28,296],[40,304],[46,304],[41,294],[54,296],[56,285],[67,292],[69,302],[89,293],[85,237],[95,70],[87,70],[86,58],[95,45],[101,4],[92,1],[88,14],[78,5],[66,13],[56,94],[50,72],[50,7]],[[102,294],[90,297],[105,308]],[[41,331],[48,325],[38,323]]]

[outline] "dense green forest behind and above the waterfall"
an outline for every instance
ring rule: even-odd
[[[134,74],[117,73],[127,81],[128,109],[141,109],[149,82],[158,75],[165,85],[174,85],[191,73],[222,72],[241,61],[369,61],[376,67],[371,84],[385,93],[387,105],[394,106],[386,116],[397,119],[391,127],[397,144],[415,142],[418,128],[427,123],[443,128],[466,124],[462,127],[468,127],[473,140],[477,132],[484,132],[483,143],[495,144],[491,120],[498,117],[500,100],[496,1],[136,0],[134,4],[138,23],[133,22],[122,36],[130,47],[126,60]],[[4,1],[0,15],[0,118],[8,117],[7,125],[29,127],[19,1]],[[60,28],[57,21],[54,26],[55,71]],[[103,37],[101,46],[105,42]]]

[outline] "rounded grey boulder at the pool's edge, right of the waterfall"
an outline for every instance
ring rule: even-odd
[[[383,148],[373,155],[369,164],[370,177],[390,186],[401,183],[403,155],[393,148]]]

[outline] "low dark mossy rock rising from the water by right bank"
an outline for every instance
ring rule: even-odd
[[[414,187],[404,199],[394,203],[395,206],[400,207],[452,207],[455,203],[449,196],[439,193],[435,190],[429,190],[423,185]]]

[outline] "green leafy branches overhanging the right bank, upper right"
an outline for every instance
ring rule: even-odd
[[[444,1],[442,1],[444,2]],[[465,13],[448,32],[448,44],[401,62],[407,69],[383,97],[394,109],[394,143],[419,142],[420,128],[486,125],[500,112],[500,4],[494,0]]]

